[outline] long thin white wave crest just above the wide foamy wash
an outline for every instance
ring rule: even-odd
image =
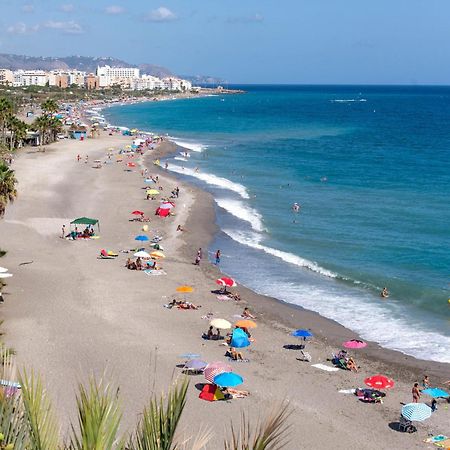
[[[309,261],[308,259],[302,258],[298,255],[294,255],[293,253],[284,252],[282,250],[278,250],[276,248],[267,247],[262,245],[261,239],[262,236],[257,233],[245,233],[237,230],[227,230],[224,229],[223,232],[231,237],[231,239],[239,242],[240,244],[247,245],[248,247],[255,248],[257,250],[262,250],[263,252],[275,256],[276,258],[282,259],[283,261],[293,264],[298,267],[303,267],[305,269],[309,269],[312,272],[319,273],[329,278],[338,278],[338,275],[330,270],[324,269],[320,267],[317,263],[313,261]]]

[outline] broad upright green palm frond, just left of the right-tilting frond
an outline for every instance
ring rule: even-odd
[[[101,379],[91,378],[86,389],[79,385],[78,428],[72,425],[69,448],[73,450],[120,450],[117,430],[122,414],[117,392]]]

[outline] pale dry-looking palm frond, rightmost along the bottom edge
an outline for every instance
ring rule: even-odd
[[[275,407],[264,419],[259,420],[254,432],[250,420],[242,413],[241,424],[236,429],[231,424],[231,437],[225,440],[225,450],[279,450],[289,442],[291,414],[287,404]]]

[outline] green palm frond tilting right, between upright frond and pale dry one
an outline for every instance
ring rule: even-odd
[[[184,378],[158,399],[153,397],[128,443],[128,450],[176,450],[175,431],[186,405],[189,381]]]

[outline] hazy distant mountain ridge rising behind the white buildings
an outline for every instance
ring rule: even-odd
[[[9,70],[55,70],[55,69],[78,69],[83,72],[95,72],[97,66],[108,65],[111,67],[136,67],[134,64],[127,63],[121,59],[111,57],[93,57],[93,56],[24,56],[0,53],[0,69]],[[141,73],[164,78],[174,76],[169,69],[154,64],[140,64]],[[222,80],[210,76],[183,75],[182,78],[192,81],[194,84],[220,84]]]

